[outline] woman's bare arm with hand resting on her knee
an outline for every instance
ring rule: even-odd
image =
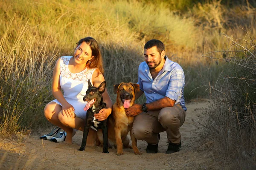
[[[52,95],[62,104],[63,113],[65,113],[67,117],[74,117],[74,107],[67,102],[67,100],[64,98],[61,92],[60,63],[61,59],[59,58],[54,66],[52,74]]]

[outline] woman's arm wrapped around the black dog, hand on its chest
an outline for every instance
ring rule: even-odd
[[[96,69],[92,75],[93,86],[99,87],[99,85],[104,81],[105,81],[104,76],[99,71],[99,69]],[[99,113],[97,113],[97,114],[94,114],[95,118],[98,119],[99,121],[102,121],[102,120],[105,120],[108,118],[108,116],[111,114],[112,106],[113,106],[113,103],[108,94],[107,88],[105,89],[104,93],[102,94],[102,97],[103,97],[103,102],[105,102],[107,105],[107,108],[100,110]]]

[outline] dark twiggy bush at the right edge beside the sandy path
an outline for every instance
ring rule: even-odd
[[[227,50],[218,52],[227,67],[209,86],[214,105],[204,112],[208,119],[202,138],[214,142],[215,158],[232,162],[230,168],[255,169],[256,39],[247,31],[244,38],[236,40],[222,35],[231,41]]]

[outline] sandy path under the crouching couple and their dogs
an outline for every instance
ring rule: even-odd
[[[109,154],[102,153],[102,147],[86,147],[78,151],[82,132],[74,136],[73,144],[54,143],[39,139],[39,136],[49,133],[51,129],[41,130],[26,137],[22,144],[13,140],[0,139],[0,170],[197,170],[218,169],[211,158],[211,153],[204,152],[198,145],[196,132],[200,118],[197,108],[207,108],[208,100],[186,104],[186,122],[180,129],[182,147],[180,152],[165,154],[167,149],[166,132],[160,133],[158,153],[145,152],[147,144],[138,141],[142,155],[135,155],[132,149],[124,149],[124,155],[117,156],[116,149],[109,149]],[[200,127],[200,126],[199,126]]]

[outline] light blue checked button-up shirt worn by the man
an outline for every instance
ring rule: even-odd
[[[162,70],[159,71],[154,80],[147,63],[140,63],[137,84],[140,85],[140,90],[145,93],[146,103],[157,101],[166,96],[175,100],[175,105],[181,105],[186,111],[183,92],[185,85],[183,69],[176,62],[169,60],[168,57],[165,56],[165,59]]]

